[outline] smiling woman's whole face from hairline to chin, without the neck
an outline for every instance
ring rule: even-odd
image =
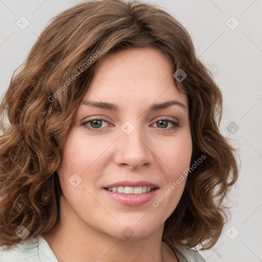
[[[149,236],[177,207],[191,154],[187,97],[168,58],[118,51],[99,64],[76,113],[58,169],[60,201],[79,226]]]

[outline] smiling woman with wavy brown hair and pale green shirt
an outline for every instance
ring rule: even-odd
[[[238,176],[222,94],[165,11],[65,10],[1,113],[1,261],[204,261],[219,239]]]

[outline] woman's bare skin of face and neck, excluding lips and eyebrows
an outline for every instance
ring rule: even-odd
[[[152,205],[189,167],[192,154],[187,97],[176,88],[171,65],[152,48],[121,50],[99,64],[83,100],[114,103],[120,111],[78,108],[57,170],[64,194],[60,226],[53,235],[43,235],[59,261],[178,261],[161,237],[186,179],[158,207]],[[151,104],[170,99],[186,108],[148,111]],[[81,124],[91,117],[106,122]],[[165,118],[180,127],[160,125]],[[129,135],[121,129],[126,121],[135,127]],[[86,126],[100,127],[92,131]],[[77,187],[69,183],[74,173],[82,179]],[[159,190],[148,203],[126,206],[102,189],[123,180],[149,181]],[[134,233],[129,239],[121,233],[127,226]]]

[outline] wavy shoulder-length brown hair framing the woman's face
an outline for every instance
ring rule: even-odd
[[[0,108],[1,245],[19,242],[21,226],[31,237],[57,229],[62,191],[56,170],[77,108],[99,62],[130,48],[160,50],[173,73],[182,69],[187,74],[174,83],[189,103],[191,165],[205,156],[188,174],[162,241],[204,250],[219,239],[230,213],[224,200],[238,177],[236,149],[219,130],[222,93],[174,17],[155,5],[102,0],[54,17],[11,78]]]

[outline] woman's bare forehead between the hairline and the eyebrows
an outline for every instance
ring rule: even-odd
[[[176,99],[187,106],[176,87],[172,64],[160,50],[120,50],[102,60],[83,100],[127,105]]]

